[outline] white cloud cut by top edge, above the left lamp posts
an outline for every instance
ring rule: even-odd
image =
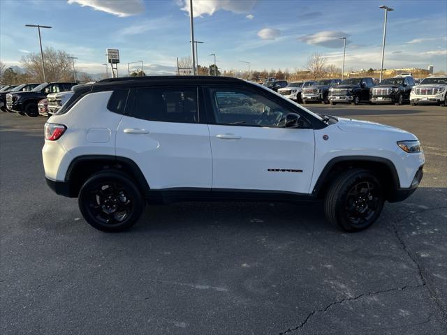
[[[88,6],[119,17],[138,15],[145,11],[142,0],[68,0],[68,3],[78,3],[82,7]]]

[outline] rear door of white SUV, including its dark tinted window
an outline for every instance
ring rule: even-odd
[[[197,87],[143,87],[131,96],[117,156],[137,163],[151,189],[210,189],[210,133],[200,124]]]

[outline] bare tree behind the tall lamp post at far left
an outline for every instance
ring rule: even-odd
[[[43,52],[45,64],[45,77],[47,82],[57,82],[62,80],[72,80],[73,68],[70,55],[62,50],[54,50],[47,47]],[[22,57],[22,65],[31,81],[43,82],[43,70],[41,54],[31,53]]]

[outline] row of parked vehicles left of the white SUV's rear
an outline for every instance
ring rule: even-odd
[[[0,89],[0,110],[37,117],[50,116],[73,95],[76,82],[10,85]]]

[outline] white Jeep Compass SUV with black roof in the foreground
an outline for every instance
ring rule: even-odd
[[[45,124],[43,165],[85,220],[117,232],[146,202],[324,200],[328,221],[363,230],[423,177],[415,135],[318,115],[230,77],[133,77],[74,88]]]

